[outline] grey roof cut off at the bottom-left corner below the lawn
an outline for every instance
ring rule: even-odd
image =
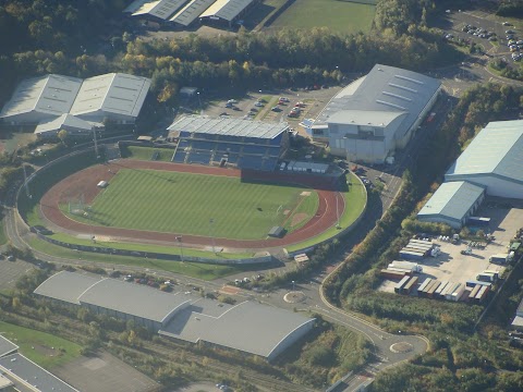
[[[22,354],[12,354],[0,358],[0,370],[32,385],[40,392],[78,392],[70,384],[51,375]]]

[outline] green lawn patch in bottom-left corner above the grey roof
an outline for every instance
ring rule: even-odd
[[[78,357],[82,348],[65,339],[3,321],[0,321],[0,334],[16,344],[23,355],[46,369]]]

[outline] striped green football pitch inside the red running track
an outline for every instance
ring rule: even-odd
[[[124,169],[95,198],[88,218],[73,218],[112,228],[258,240],[275,225],[289,232],[303,226],[318,205],[318,194],[301,186]]]

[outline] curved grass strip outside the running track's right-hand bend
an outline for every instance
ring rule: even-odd
[[[353,173],[349,173],[346,175],[346,181],[350,185],[349,189],[346,192],[343,192],[345,209],[340,216],[341,230],[350,226],[357,219],[357,217],[360,217],[360,215],[363,212],[363,209],[365,208],[365,204],[367,203],[365,186],[363,186],[362,183],[357,180],[357,176]],[[309,246],[314,246],[323,241],[333,237],[339,232],[340,230],[337,229],[335,225],[315,237],[288,246],[287,250],[294,252]]]

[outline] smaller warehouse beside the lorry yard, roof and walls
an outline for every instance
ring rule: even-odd
[[[483,186],[466,181],[442,183],[430,199],[417,213],[424,222],[447,223],[453,229],[461,229],[479,207],[485,198]]]

